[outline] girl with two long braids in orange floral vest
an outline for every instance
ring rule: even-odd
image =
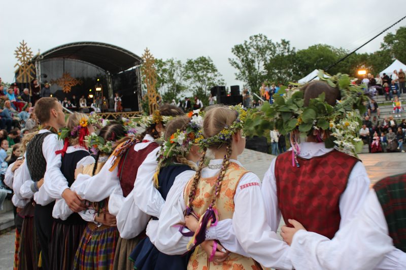
[[[265,208],[260,180],[237,161],[245,148],[242,134],[245,115],[239,106],[209,108],[202,135],[196,138],[202,150],[198,170],[184,192],[167,200],[162,209],[154,244],[166,254],[183,254],[194,248],[188,269],[260,269],[239,245],[257,221],[266,219],[262,214]],[[212,151],[214,160],[205,166],[207,150]],[[184,226],[179,229],[179,224]],[[244,228],[247,234],[236,235],[236,227]],[[288,246],[274,232],[266,233],[275,240],[270,247],[275,252],[269,254],[275,266],[291,268],[286,259]]]

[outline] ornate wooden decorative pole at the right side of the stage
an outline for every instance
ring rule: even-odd
[[[144,63],[141,67],[141,72],[144,75],[144,83],[147,86],[147,98],[148,98],[148,109],[149,114],[153,113],[154,110],[158,108],[158,101],[161,99],[160,95],[156,92],[156,70],[154,67],[155,58],[149,52],[148,48],[145,49],[145,52],[142,56]],[[145,97],[143,99],[145,100]]]

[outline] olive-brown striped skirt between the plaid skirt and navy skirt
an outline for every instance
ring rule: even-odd
[[[114,270],[133,270],[134,262],[129,259],[131,252],[137,246],[137,244],[145,238],[145,234],[140,237],[123,239],[118,238],[116,254],[114,256]]]

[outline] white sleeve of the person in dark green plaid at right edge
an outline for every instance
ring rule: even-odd
[[[370,190],[358,215],[332,240],[299,230],[290,257],[295,269],[406,269],[406,253],[393,246],[375,190]]]

